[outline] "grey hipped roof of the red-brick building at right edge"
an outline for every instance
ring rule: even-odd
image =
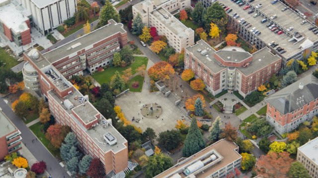
[[[303,89],[299,89],[300,83],[303,83]],[[266,101],[280,113],[287,114],[316,98],[318,98],[318,79],[313,75],[308,75],[272,94]]]

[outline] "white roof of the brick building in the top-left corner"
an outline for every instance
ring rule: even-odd
[[[30,15],[31,13],[13,3],[0,7],[0,21],[15,34],[29,29],[25,21],[29,19]]]

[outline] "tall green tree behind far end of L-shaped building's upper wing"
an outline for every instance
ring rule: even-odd
[[[108,20],[113,19],[116,22],[120,22],[120,16],[114,6],[110,3],[109,0],[105,1],[105,5],[102,7],[99,12],[99,22],[97,28],[100,28],[108,24]]]

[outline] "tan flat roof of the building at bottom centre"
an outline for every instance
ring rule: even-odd
[[[235,150],[239,148],[234,142],[227,141],[225,139],[219,140],[214,144],[206,147],[205,149],[199,151],[198,153],[190,156],[189,158],[183,160],[182,162],[174,165],[163,173],[159,174],[155,178],[170,178],[175,174],[179,174],[182,178],[185,175],[182,172],[193,163],[198,161],[205,162],[207,157],[215,154],[217,159],[212,162],[204,164],[204,167],[192,173],[195,178],[207,178],[216,171],[222,169],[228,164],[241,159],[239,153]]]

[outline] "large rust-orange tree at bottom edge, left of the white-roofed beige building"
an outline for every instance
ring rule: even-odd
[[[293,159],[287,152],[270,152],[260,156],[255,166],[255,172],[264,178],[285,178],[292,161]]]

